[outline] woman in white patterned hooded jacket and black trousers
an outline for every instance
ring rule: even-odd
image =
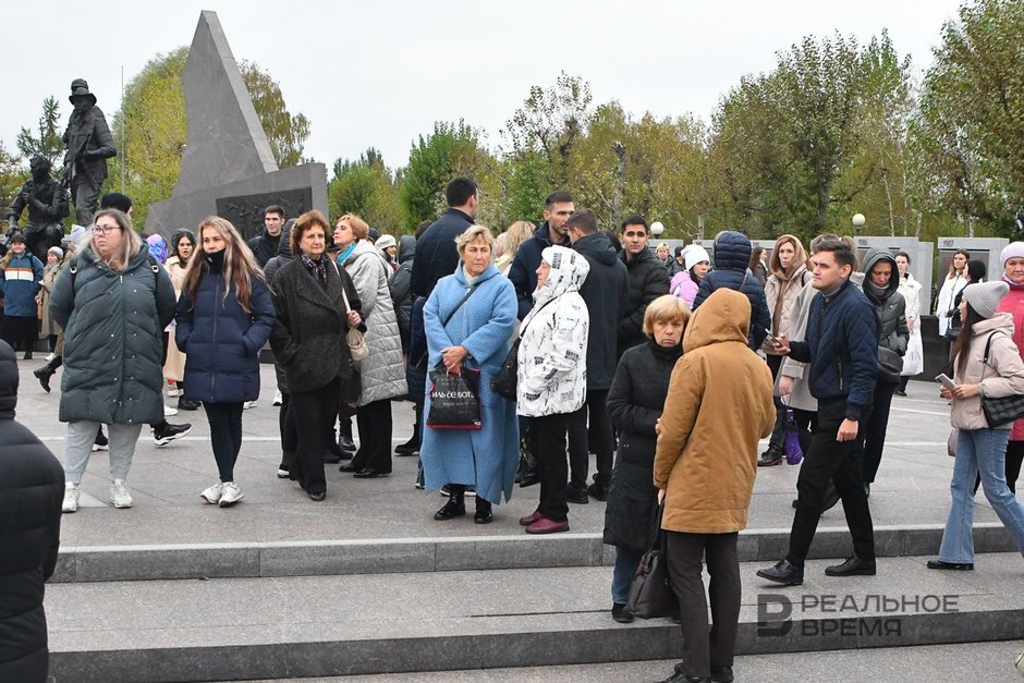
[[[590,270],[578,253],[549,246],[540,254],[534,306],[523,319],[519,347],[517,412],[529,418],[540,475],[540,504],[522,520],[527,534],[569,530],[565,452],[569,418],[587,390],[590,316],[580,285]]]

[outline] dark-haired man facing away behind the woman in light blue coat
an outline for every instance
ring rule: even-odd
[[[413,301],[417,296],[430,296],[438,280],[455,272],[459,266],[455,237],[473,224],[480,208],[476,183],[468,178],[455,178],[448,183],[444,199],[448,210],[416,241],[416,258],[410,280]]]

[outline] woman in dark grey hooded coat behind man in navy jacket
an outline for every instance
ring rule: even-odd
[[[878,377],[871,415],[864,436],[864,490],[870,493],[886,447],[889,406],[893,392],[900,386],[903,355],[911,336],[906,328],[906,302],[898,291],[900,270],[889,252],[871,249],[865,255],[864,282],[861,286],[878,318]]]

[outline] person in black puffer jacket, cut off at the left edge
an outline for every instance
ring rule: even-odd
[[[57,566],[64,469],[14,422],[17,363],[0,341],[0,681],[47,679],[44,582]]]

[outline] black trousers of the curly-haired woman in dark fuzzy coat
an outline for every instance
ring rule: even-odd
[[[307,493],[322,493],[327,490],[324,476],[324,435],[326,425],[333,424],[338,415],[338,400],[341,395],[341,380],[337,377],[330,383],[313,391],[296,391],[291,394],[290,418],[294,420],[298,436],[295,460],[289,467],[289,478],[306,489]]]

